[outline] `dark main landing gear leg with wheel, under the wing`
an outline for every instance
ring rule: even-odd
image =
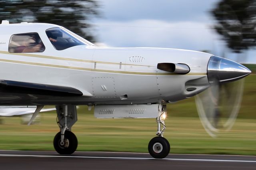
[[[59,154],[72,154],[78,145],[76,135],[71,132],[71,127],[77,121],[76,106],[58,105],[56,110],[60,132],[54,137],[54,148]]]

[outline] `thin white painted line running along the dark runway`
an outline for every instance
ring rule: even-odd
[[[137,159],[151,160],[155,158],[128,158],[128,157],[98,157],[98,156],[50,156],[50,155],[19,155],[19,154],[0,154],[0,156],[10,157],[40,157],[40,158],[101,158],[101,159]],[[218,160],[218,159],[180,159],[180,158],[164,158],[162,160],[178,160],[178,161],[204,161],[204,162],[250,162],[256,163],[256,160]]]

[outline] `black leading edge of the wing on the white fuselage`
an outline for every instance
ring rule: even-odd
[[[0,91],[5,93],[24,93],[50,96],[82,96],[83,93],[73,87],[27,83],[21,81],[0,80]]]

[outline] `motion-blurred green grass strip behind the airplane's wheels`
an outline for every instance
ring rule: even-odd
[[[212,138],[204,131],[194,99],[168,105],[164,137],[171,153],[256,155],[256,75],[246,77],[244,99],[234,127]],[[40,114],[40,125],[21,125],[20,117],[3,117],[0,150],[54,150],[52,140],[59,131],[56,113]],[[148,152],[155,136],[154,119],[96,119],[81,106],[72,127],[80,151]]]

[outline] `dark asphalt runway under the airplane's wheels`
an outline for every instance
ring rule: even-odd
[[[1,170],[255,170],[256,156],[169,154],[154,159],[146,153],[0,150]]]

